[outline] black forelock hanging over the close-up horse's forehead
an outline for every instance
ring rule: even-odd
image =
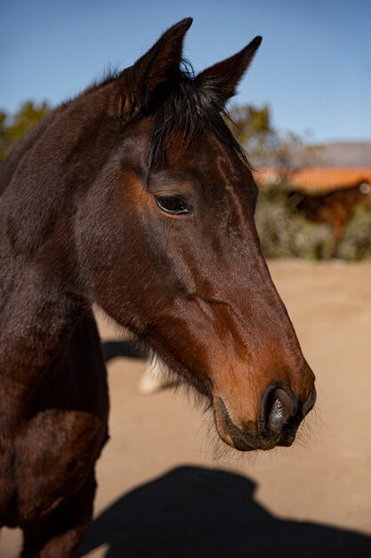
[[[145,170],[147,182],[151,170],[164,162],[166,146],[172,143],[174,137],[181,137],[181,146],[187,148],[206,130],[249,166],[246,153],[230,129],[232,119],[221,93],[217,79],[204,78],[202,83],[198,83],[190,62],[181,62],[176,82],[170,91],[163,94],[163,98],[157,97],[152,109],[155,124]]]

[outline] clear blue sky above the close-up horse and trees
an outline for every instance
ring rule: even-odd
[[[56,105],[187,16],[196,70],[263,36],[236,102],[269,103],[280,131],[313,142],[371,140],[369,0],[2,0],[0,109]]]

